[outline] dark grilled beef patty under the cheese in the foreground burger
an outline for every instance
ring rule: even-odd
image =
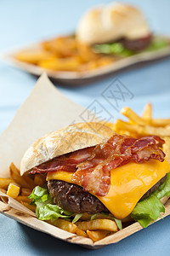
[[[162,177],[141,199],[147,198],[151,193],[156,191],[165,180],[166,176]],[[48,190],[51,197],[54,198],[54,203],[66,211],[76,213],[88,212],[90,214],[108,212],[107,208],[97,197],[84,192],[82,187],[76,184],[52,179],[48,181]]]

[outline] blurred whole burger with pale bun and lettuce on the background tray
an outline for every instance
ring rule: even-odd
[[[142,12],[127,3],[88,9],[78,23],[76,37],[98,53],[125,56],[155,49],[164,41],[153,36]]]

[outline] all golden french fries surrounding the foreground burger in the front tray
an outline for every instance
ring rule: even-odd
[[[117,134],[127,134],[133,137],[160,136],[166,142],[163,145],[163,151],[170,164],[170,119],[153,119],[150,104],[144,107],[142,117],[127,107],[122,108],[122,114],[127,117],[127,122],[117,119],[115,124],[108,123],[107,125]],[[31,201],[28,196],[35,186],[42,186],[45,183],[45,177],[41,174],[21,177],[20,171],[13,163],[9,166],[9,174],[10,177],[8,178],[0,178],[0,189],[8,196],[20,201],[31,211],[36,212],[36,207],[30,204]],[[2,200],[4,201],[3,197]],[[48,223],[77,234],[77,236],[89,237],[93,241],[99,241],[118,231],[116,222],[111,219],[111,216],[105,217],[100,213],[97,214],[94,220],[90,220],[88,213],[83,214],[81,220],[77,221],[76,224],[62,218],[49,220]]]

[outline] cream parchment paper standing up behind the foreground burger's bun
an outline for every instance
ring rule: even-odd
[[[20,169],[23,154],[37,138],[73,122],[82,122],[79,115],[84,110],[61,94],[43,73],[0,136],[0,177],[8,177],[8,166],[12,161]]]

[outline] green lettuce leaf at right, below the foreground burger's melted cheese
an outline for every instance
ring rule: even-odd
[[[137,203],[131,213],[131,217],[137,220],[142,227],[146,228],[152,220],[161,217],[161,212],[165,212],[165,207],[160,199],[166,195],[170,195],[170,173],[167,173],[166,181],[155,192]]]

